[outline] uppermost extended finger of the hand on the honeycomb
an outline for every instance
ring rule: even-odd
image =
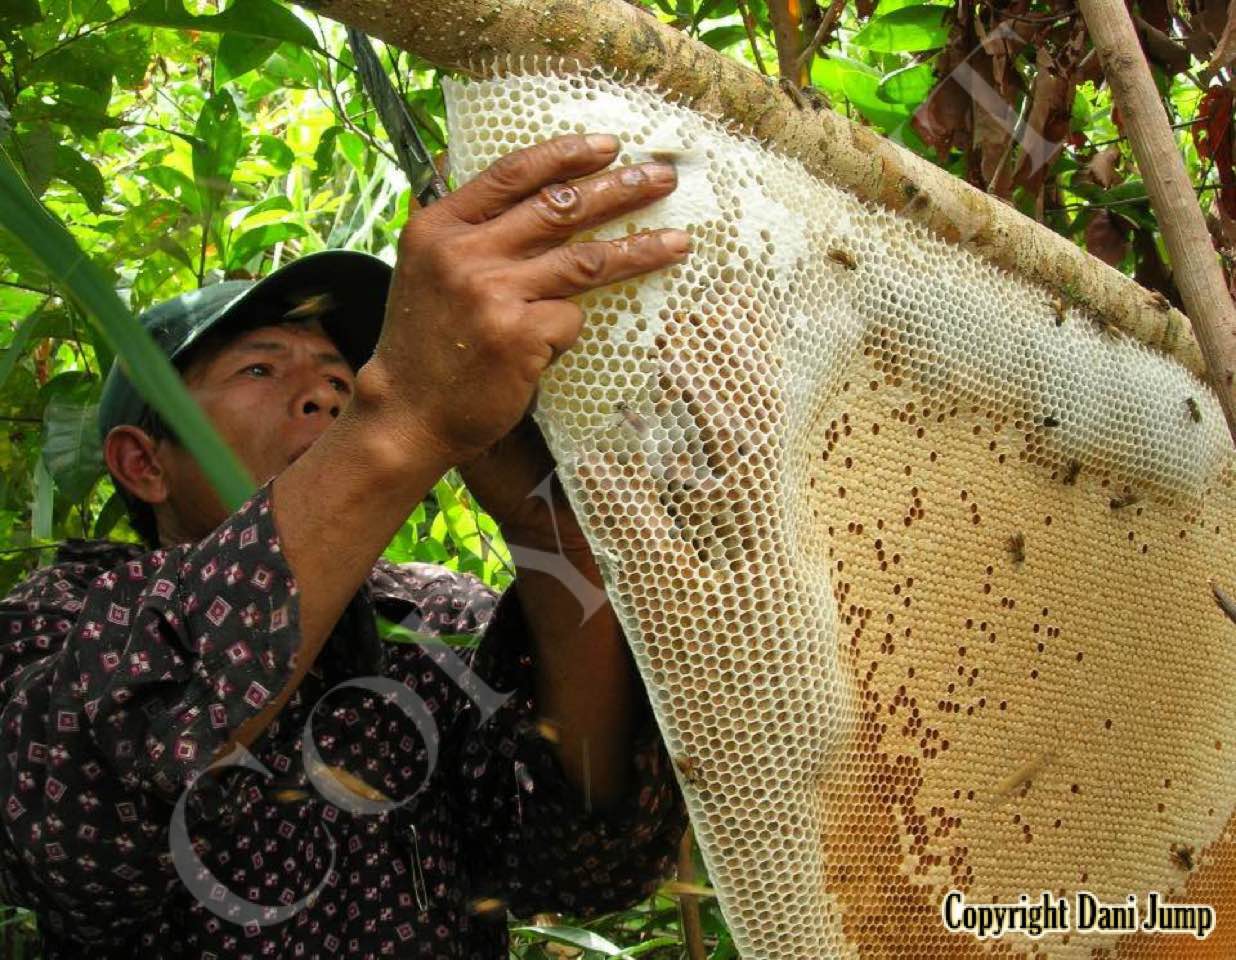
[[[470,224],[492,220],[520,200],[557,180],[587,177],[613,163],[618,138],[609,133],[570,133],[554,137],[497,161],[476,179],[442,200],[445,208]]]

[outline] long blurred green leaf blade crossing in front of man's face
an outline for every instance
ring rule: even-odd
[[[42,261],[64,293],[95,319],[133,385],[184,440],[224,504],[230,509],[239,507],[253,483],[236,455],[215,432],[163,351],[125,309],[104,272],[87,257],[64,225],[35,199],[2,148],[0,226]],[[49,533],[49,516],[47,521]]]

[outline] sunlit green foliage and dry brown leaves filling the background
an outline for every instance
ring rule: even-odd
[[[803,77],[834,109],[1179,303],[1070,0],[643,2],[755,69],[792,63],[817,38]],[[1137,0],[1135,10],[1230,269],[1236,175],[1232,96],[1221,84],[1231,77],[1209,65],[1229,57],[1215,52],[1225,6]],[[798,22],[795,49],[775,48],[772,14]],[[9,0],[0,51],[0,147],[129,310],[328,247],[393,261],[407,184],[336,25],[276,0]],[[444,151],[438,73],[398,51],[384,57],[430,148]],[[1027,132],[1044,153],[1023,148]],[[89,429],[114,351],[127,347],[26,242],[0,229],[0,589],[57,540],[132,536]],[[498,588],[513,573],[501,533],[454,472],[387,555],[446,563]],[[585,925],[541,918],[513,930],[513,951],[680,956],[677,909],[659,895]],[[734,956],[714,901],[703,899],[702,914],[708,956]],[[7,937],[30,918],[10,913],[0,924]]]

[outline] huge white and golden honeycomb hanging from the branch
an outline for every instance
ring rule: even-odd
[[[681,226],[690,258],[580,298],[536,419],[742,955],[1236,956],[1214,394],[645,85],[540,62],[445,86],[460,182],[567,132],[677,166],[586,236]],[[980,941],[944,928],[949,890],[1154,890],[1217,929]]]

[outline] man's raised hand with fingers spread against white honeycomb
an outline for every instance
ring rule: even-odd
[[[408,221],[382,337],[357,381],[358,399],[397,406],[407,442],[435,446],[450,465],[476,460],[578,337],[582,310],[567,298],[685,258],[681,230],[566,243],[676,185],[667,163],[591,175],[617,153],[607,135],[557,137],[503,157]]]

